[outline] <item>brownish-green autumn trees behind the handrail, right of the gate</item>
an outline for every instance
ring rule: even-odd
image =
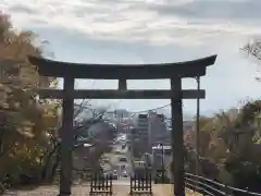
[[[237,187],[258,187],[261,166],[260,100],[200,119],[200,174]],[[186,169],[195,172],[195,132],[185,135]]]

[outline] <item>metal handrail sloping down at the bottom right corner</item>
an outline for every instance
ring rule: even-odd
[[[261,196],[261,193],[236,188],[191,173],[185,173],[185,184],[188,188],[204,195],[234,196],[240,194],[246,196]]]

